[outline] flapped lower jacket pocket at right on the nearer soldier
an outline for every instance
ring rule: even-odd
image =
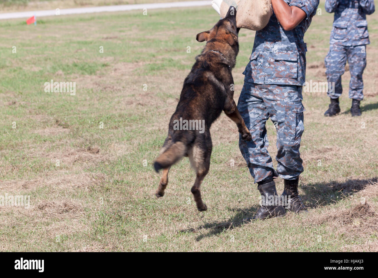
[[[274,76],[284,78],[297,78],[298,53],[296,51],[277,51],[274,56]]]

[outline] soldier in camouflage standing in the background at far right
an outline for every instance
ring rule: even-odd
[[[350,71],[349,98],[352,99],[352,116],[361,116],[363,100],[362,74],[366,67],[366,45],[370,43],[366,15],[375,10],[373,0],[325,0],[325,10],[335,12],[330,38],[330,51],[324,59],[328,84],[333,90],[328,96],[331,103],[324,116],[340,112],[339,96],[342,93],[341,76],[348,60]],[[334,82],[334,83],[329,83]]]

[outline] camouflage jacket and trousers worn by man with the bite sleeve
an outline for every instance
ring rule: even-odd
[[[255,182],[267,177],[296,179],[303,172],[299,154],[304,131],[302,86],[305,84],[306,43],[303,36],[319,0],[285,1],[301,8],[307,17],[291,31],[283,30],[275,14],[268,25],[256,31],[250,62],[243,74],[244,86],[238,109],[252,141],[239,138],[239,147]],[[268,153],[265,123],[271,118],[277,128],[277,171]]]

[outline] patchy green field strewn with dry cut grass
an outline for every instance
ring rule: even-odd
[[[308,81],[326,81],[333,15],[319,8],[305,35]],[[156,199],[152,162],[204,46],[195,36],[217,20],[207,7],[0,22],[0,196],[30,196],[30,208],[0,206],[1,251],[378,251],[378,13],[368,16],[363,115],[348,113],[349,71],[335,118],[323,116],[325,93],[304,92],[300,193],[310,213],[242,222],[259,193],[225,115],[211,128],[208,211],[196,209],[186,158]],[[235,101],[253,39],[240,31]],[[51,79],[76,82],[76,95],[46,93]]]

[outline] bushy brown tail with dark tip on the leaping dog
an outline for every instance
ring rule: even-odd
[[[186,145],[181,141],[172,143],[161,155],[156,158],[153,167],[156,172],[165,169],[178,162],[186,152]]]

